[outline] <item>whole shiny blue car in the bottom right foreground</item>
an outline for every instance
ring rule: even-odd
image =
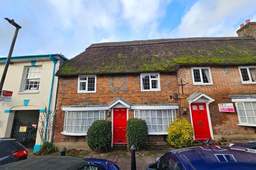
[[[153,169],[256,169],[256,150],[219,146],[172,150],[147,167]]]

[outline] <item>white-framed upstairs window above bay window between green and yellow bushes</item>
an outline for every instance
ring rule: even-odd
[[[159,73],[141,73],[140,74],[141,91],[160,91]]]

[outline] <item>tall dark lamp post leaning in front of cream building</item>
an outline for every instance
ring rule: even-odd
[[[5,62],[4,72],[3,72],[3,75],[2,75],[2,78],[1,78],[1,81],[0,81],[0,92],[2,92],[2,90],[3,90],[4,80],[5,80],[6,73],[7,73],[9,64],[10,64],[10,60],[11,60],[11,56],[12,56],[14,44],[15,44],[15,41],[16,41],[16,39],[17,39],[17,35],[18,35],[18,32],[19,32],[19,29],[21,29],[20,25],[17,24],[16,22],[14,22],[13,19],[12,19],[12,20],[10,20],[9,18],[4,18],[4,19],[7,20],[10,24],[12,24],[12,25],[16,28],[16,30],[15,30],[15,32],[14,32],[14,36],[13,36],[13,39],[12,39],[11,48],[10,48],[10,50],[9,50],[9,54],[8,54],[7,60],[6,60],[6,62]]]

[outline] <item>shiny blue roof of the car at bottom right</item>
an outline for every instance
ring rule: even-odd
[[[256,150],[254,149],[201,146],[173,150],[168,154],[174,154],[183,164],[192,169],[221,169],[222,167],[236,169],[238,166],[250,169],[256,166]]]

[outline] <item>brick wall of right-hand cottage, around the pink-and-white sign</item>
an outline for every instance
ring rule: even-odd
[[[183,83],[188,82],[186,86],[183,86],[184,95],[181,94],[181,87],[179,87],[181,106],[185,105],[189,108],[186,98],[193,92],[203,92],[215,100],[209,105],[214,135],[254,134],[253,128],[237,125],[239,123],[237,112],[219,112],[218,104],[232,103],[228,95],[256,94],[256,85],[242,84],[237,66],[229,66],[228,73],[225,73],[222,67],[211,67],[211,73],[213,85],[193,85],[191,68],[181,67],[179,69],[178,82],[180,83],[180,79]],[[233,104],[235,107],[235,103]],[[190,121],[190,115],[186,119]]]

